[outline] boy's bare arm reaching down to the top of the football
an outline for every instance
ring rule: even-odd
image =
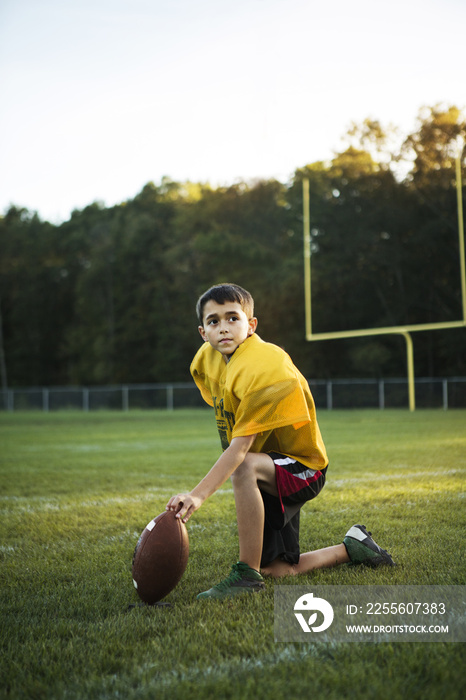
[[[181,518],[184,523],[187,522],[204,501],[215,493],[235,469],[244,462],[255,439],[255,435],[233,438],[229,447],[220,455],[202,481],[190,493],[179,493],[172,496],[167,503],[166,510],[176,511],[176,517]]]

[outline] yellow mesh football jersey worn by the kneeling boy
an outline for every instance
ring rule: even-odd
[[[223,449],[234,437],[257,434],[252,452],[280,452],[313,469],[327,466],[309,385],[277,345],[254,333],[225,363],[206,342],[191,374],[215,410]]]

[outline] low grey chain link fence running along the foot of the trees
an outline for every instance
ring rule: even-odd
[[[318,409],[407,408],[406,379],[309,380]],[[0,392],[0,410],[203,408],[192,382],[94,387],[30,387]],[[416,408],[466,408],[466,377],[416,379]]]

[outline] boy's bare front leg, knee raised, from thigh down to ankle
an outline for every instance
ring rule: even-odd
[[[239,558],[259,571],[264,533],[264,502],[259,486],[278,496],[275,465],[269,455],[250,452],[231,476],[238,521]]]

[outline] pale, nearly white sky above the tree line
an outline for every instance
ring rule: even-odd
[[[328,161],[466,107],[464,0],[0,0],[0,215]]]

